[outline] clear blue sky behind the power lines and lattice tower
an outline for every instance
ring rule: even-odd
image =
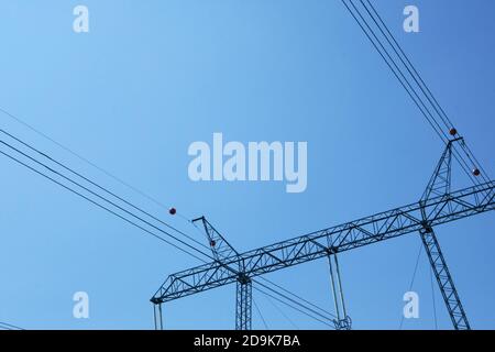
[[[86,4],[90,33],[72,30]],[[495,3],[374,1],[484,167],[495,141]],[[2,1],[0,107],[188,217],[207,216],[250,250],[419,199],[442,145],[337,0]],[[32,131],[0,125],[204,238]],[[227,140],[307,141],[308,188],[189,180],[187,147]],[[28,329],[150,329],[148,299],[199,264],[0,157],[0,321]],[[495,328],[493,213],[437,229],[474,328]],[[354,328],[396,329],[420,245],[409,234],[340,256]],[[270,276],[332,309],[326,261]],[[73,318],[73,294],[90,319]],[[424,255],[414,286],[433,328]],[[451,323],[436,288],[439,327]],[[257,293],[270,328],[292,324]],[[280,306],[282,307],[282,306]],[[287,308],[299,328],[321,323]],[[254,328],[263,328],[255,311]],[[167,329],[231,329],[234,286],[164,306]]]

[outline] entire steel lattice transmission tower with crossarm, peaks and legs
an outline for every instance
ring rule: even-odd
[[[495,209],[493,180],[451,191],[451,158],[455,139],[448,143],[421,199],[415,204],[380,212],[333,228],[245,253],[238,253],[205,219],[215,261],[172,274],[151,301],[154,304],[155,327],[163,328],[162,305],[182,297],[235,283],[235,328],[251,328],[251,292],[255,277],[298,264],[328,257],[338,319],[337,329],[350,329],[346,316],[337,255],[339,253],[418,232],[439,284],[449,316],[455,329],[471,329],[459,298],[446,258],[440,250],[433,227]],[[333,263],[333,264],[332,264]]]

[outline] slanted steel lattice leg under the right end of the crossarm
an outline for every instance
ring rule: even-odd
[[[465,316],[464,308],[462,307],[461,299],[459,298],[458,290],[453,284],[452,276],[450,275],[449,267],[447,266],[446,258],[440,250],[440,244],[438,243],[433,229],[426,226],[419,233],[421,234],[422,243],[454,329],[471,330],[468,317]]]

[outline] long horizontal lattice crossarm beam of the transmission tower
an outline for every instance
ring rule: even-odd
[[[170,275],[152,301],[170,301],[234,283],[239,274],[231,267],[242,265],[245,275],[255,277],[416,232],[425,221],[433,227],[494,210],[494,188],[492,180],[183,271]]]

